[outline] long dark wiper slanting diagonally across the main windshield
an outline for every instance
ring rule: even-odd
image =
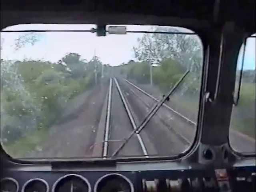
[[[187,76],[187,74],[190,72],[190,70],[187,70],[183,76],[176,82],[176,84],[173,86],[173,88],[164,96],[159,102],[156,102],[156,104],[151,108],[151,110],[148,112],[144,120],[141,122],[141,124],[126,138],[126,140],[119,146],[119,148],[112,154],[112,157],[116,156],[118,152],[125,146],[125,144],[134,136],[134,134],[139,134],[142,129],[148,124],[150,119],[156,114],[156,112],[160,109],[160,107],[164,104],[164,102],[172,95],[172,93],[176,90],[176,88],[180,85],[180,83],[184,80],[184,78]]]

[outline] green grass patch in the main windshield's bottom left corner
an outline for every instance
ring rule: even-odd
[[[24,158],[26,154],[35,150],[48,138],[48,130],[41,129],[27,134],[25,137],[10,144],[4,144],[3,148],[13,158]]]

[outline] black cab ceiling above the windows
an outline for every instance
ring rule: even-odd
[[[1,0],[1,29],[15,24],[142,24],[190,29],[235,22],[255,31],[255,0]]]

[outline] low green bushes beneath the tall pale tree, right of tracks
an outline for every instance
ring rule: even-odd
[[[153,86],[159,88],[164,94],[178,82],[186,70],[188,69],[178,61],[171,58],[164,59],[159,62],[158,66],[152,67]],[[121,74],[136,84],[150,84],[150,64],[148,62],[130,60],[128,63],[116,67],[116,74]],[[195,96],[195,98],[199,97],[200,82],[201,74],[190,71],[182,82],[182,92],[186,92],[189,96]]]

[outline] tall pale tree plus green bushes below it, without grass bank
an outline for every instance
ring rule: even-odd
[[[157,27],[155,31],[180,32],[177,28]],[[153,86],[162,92],[181,78],[186,70],[183,92],[198,94],[202,72],[202,45],[197,36],[184,34],[144,34],[134,46],[134,60],[123,63],[120,73],[139,84],[150,83],[152,66]]]

